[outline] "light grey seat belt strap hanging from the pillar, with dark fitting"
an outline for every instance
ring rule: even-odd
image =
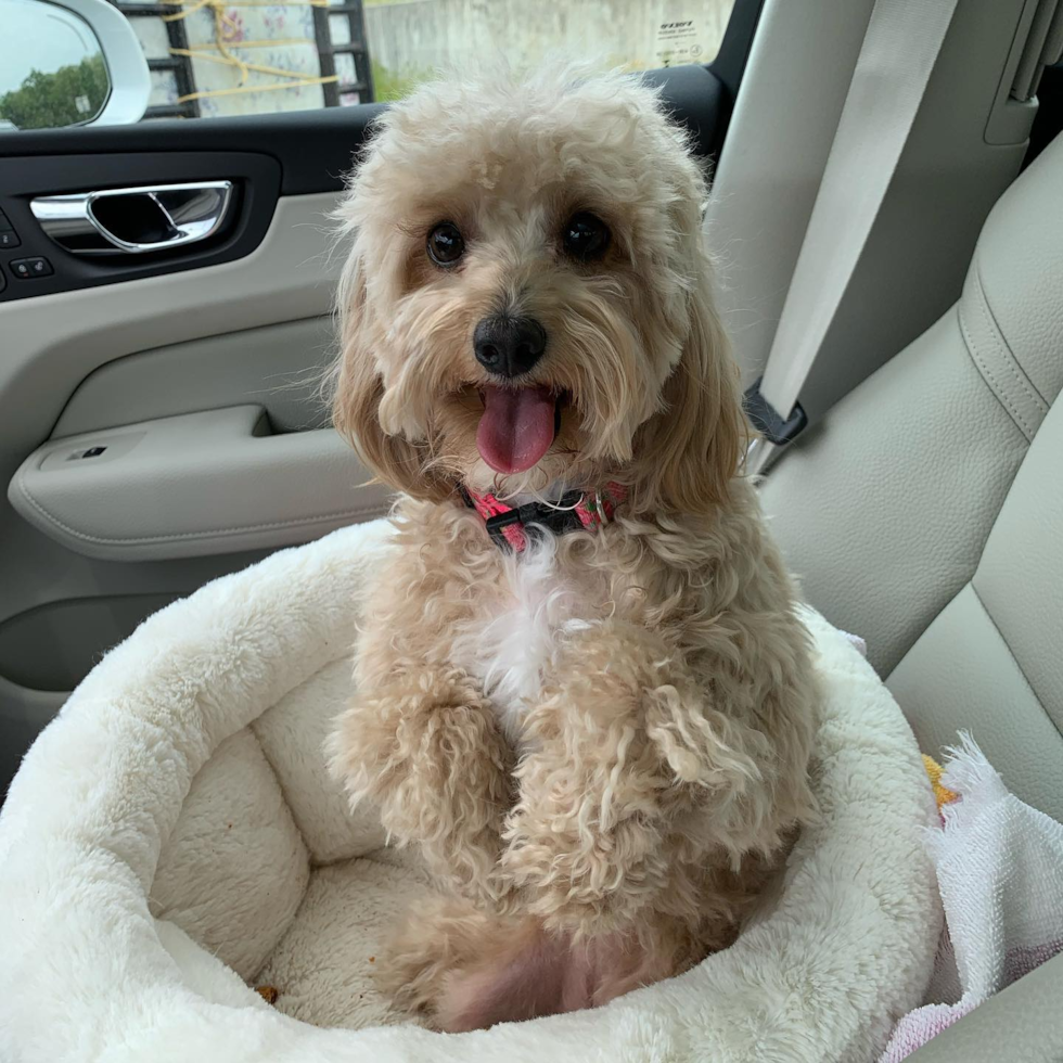
[[[764,472],[807,423],[798,404],[915,120],[957,0],[876,0],[764,375],[746,393]]]

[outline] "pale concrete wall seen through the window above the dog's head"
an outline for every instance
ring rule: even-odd
[[[373,63],[398,79],[475,68],[499,53],[516,66],[562,52],[646,69],[713,59],[733,0],[408,0],[367,7]]]

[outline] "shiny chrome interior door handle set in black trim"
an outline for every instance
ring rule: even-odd
[[[75,255],[146,255],[213,236],[231,201],[232,181],[195,181],[41,195],[29,207],[44,232]]]

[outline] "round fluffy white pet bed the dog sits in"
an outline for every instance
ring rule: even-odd
[[[169,606],[40,737],[0,818],[3,1063],[873,1058],[937,943],[934,804],[892,697],[815,614],[822,822],[738,944],[595,1011],[397,1025],[379,934],[431,887],[321,754],[381,549],[380,524],[348,528]]]

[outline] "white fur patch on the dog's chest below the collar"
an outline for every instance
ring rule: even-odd
[[[550,536],[504,560],[500,586],[485,589],[484,610],[454,632],[453,662],[476,677],[495,703],[514,748],[527,709],[542,689],[556,639],[578,623],[578,594],[562,581]]]

